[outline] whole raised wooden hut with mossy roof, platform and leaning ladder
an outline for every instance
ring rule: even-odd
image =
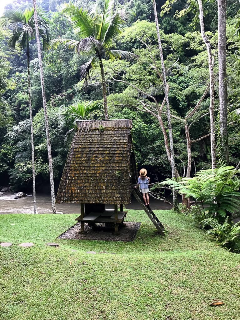
[[[105,223],[118,234],[133,194],[161,235],[164,227],[155,213],[144,205],[136,186],[138,175],[132,145],[132,120],[86,120],[77,122],[63,170],[56,203],[79,203],[76,218],[84,233],[84,224]],[[134,190],[133,190],[134,189]],[[105,204],[114,209],[105,210]],[[120,205],[120,211],[118,206]]]

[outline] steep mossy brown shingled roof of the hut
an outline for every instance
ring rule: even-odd
[[[79,121],[56,203],[129,204],[131,128],[130,119]]]

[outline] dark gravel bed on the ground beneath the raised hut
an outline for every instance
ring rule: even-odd
[[[104,223],[98,223],[95,227],[85,223],[86,233],[78,234],[81,230],[81,223],[77,222],[74,226],[62,233],[58,239],[80,239],[80,240],[104,240],[104,241],[133,241],[141,222],[125,222],[125,227],[119,228],[119,235],[112,235],[114,229],[108,229]]]

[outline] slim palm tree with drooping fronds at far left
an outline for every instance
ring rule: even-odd
[[[40,35],[43,39],[44,49],[49,48],[49,26],[48,21],[45,19],[44,13],[38,9],[38,24],[41,26]],[[30,114],[30,128],[31,128],[31,147],[32,147],[32,174],[33,174],[33,207],[36,213],[36,186],[35,186],[35,164],[34,164],[34,140],[33,140],[33,120],[32,120],[32,103],[31,103],[31,87],[30,87],[30,51],[29,42],[35,39],[35,22],[34,10],[25,9],[23,12],[9,10],[1,18],[3,25],[9,27],[11,36],[9,37],[8,44],[10,47],[15,48],[19,43],[20,48],[26,49],[27,65],[28,65],[28,103]]]

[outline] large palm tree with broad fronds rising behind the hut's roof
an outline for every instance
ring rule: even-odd
[[[91,59],[81,67],[80,75],[85,78],[85,84],[87,84],[92,70],[96,68],[96,61],[99,60],[105,119],[108,119],[108,107],[102,59],[104,57],[108,57],[111,60],[137,57],[136,54],[131,52],[111,50],[111,47],[122,33],[122,28],[125,23],[123,12],[116,12],[112,14],[113,3],[113,0],[105,0],[102,14],[89,14],[87,11],[84,11],[83,8],[79,9],[74,4],[68,4],[64,9],[64,12],[69,16],[79,40],[61,38],[54,39],[52,41],[54,48],[57,48],[59,44],[66,44],[69,48],[74,48],[78,53],[92,53]]]

